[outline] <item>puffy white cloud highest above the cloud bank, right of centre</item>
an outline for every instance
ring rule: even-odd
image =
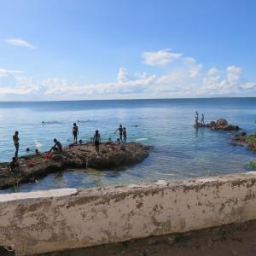
[[[171,52],[171,49],[147,51],[143,53],[143,62],[149,66],[166,66],[169,62],[180,59],[182,55]]]

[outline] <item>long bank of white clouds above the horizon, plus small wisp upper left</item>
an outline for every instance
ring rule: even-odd
[[[12,41],[16,46],[34,49],[32,44]],[[25,42],[25,41],[24,41]],[[23,71],[0,68],[1,100],[83,100],[132,98],[182,98],[241,96],[255,92],[256,82],[243,77],[241,67],[232,64],[225,70],[203,64],[172,49],[147,51],[142,65],[155,73],[130,73],[120,67],[115,81],[87,84],[62,78],[38,80]],[[161,74],[159,73],[161,71]]]

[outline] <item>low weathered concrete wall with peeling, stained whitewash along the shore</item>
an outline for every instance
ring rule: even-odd
[[[0,246],[17,255],[256,218],[256,172],[182,182],[0,195]]]

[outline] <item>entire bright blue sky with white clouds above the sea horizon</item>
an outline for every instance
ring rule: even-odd
[[[0,0],[0,100],[256,96],[256,2]]]

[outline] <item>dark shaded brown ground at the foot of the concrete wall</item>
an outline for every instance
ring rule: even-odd
[[[1,251],[0,251],[0,255]],[[256,221],[34,256],[255,256]],[[3,255],[9,256],[9,255]]]

